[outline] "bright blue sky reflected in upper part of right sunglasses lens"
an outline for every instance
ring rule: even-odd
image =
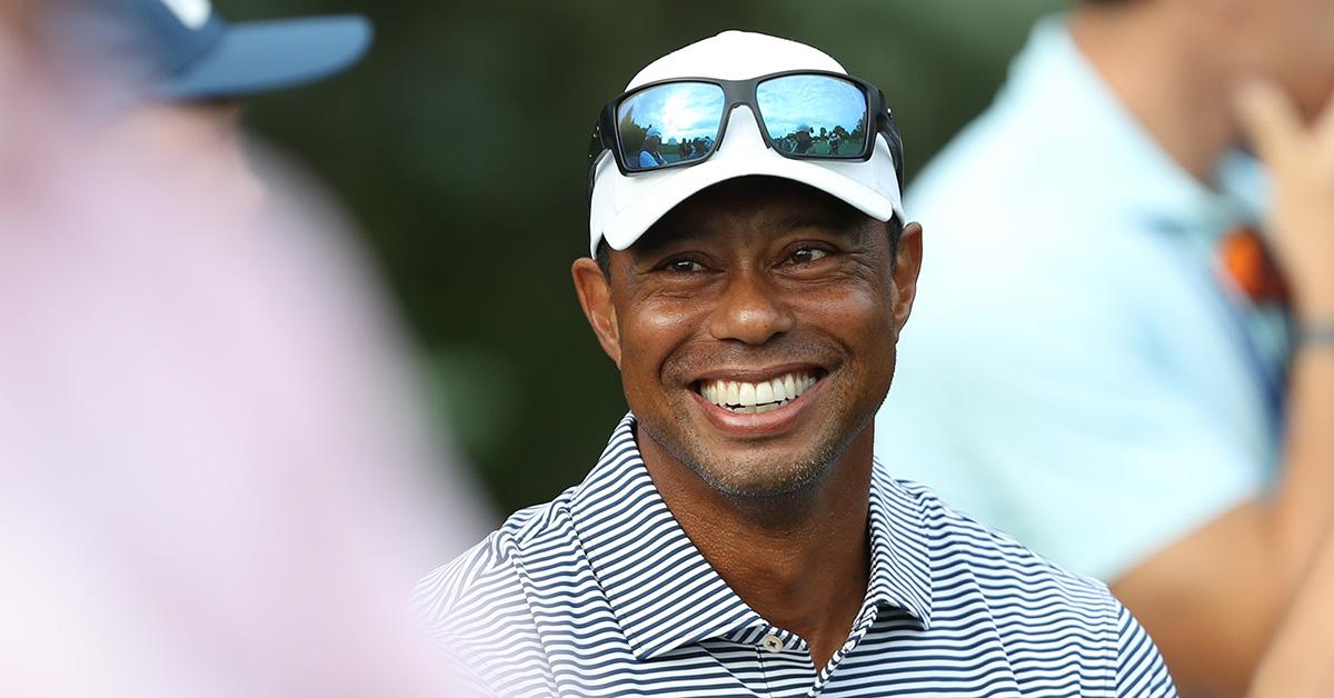
[[[764,125],[772,137],[783,137],[799,127],[832,131],[840,125],[851,132],[866,113],[866,96],[852,83],[819,75],[794,75],[766,80],[755,91]]]

